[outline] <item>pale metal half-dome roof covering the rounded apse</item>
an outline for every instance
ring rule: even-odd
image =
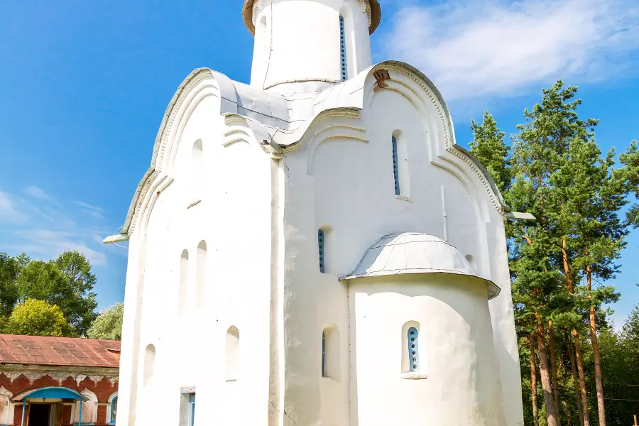
[[[488,285],[488,299],[500,292],[495,283],[474,270],[456,247],[436,236],[417,232],[383,236],[366,251],[355,271],[342,279],[422,273],[478,278]]]

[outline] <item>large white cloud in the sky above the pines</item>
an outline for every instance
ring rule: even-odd
[[[446,99],[516,96],[557,78],[583,82],[634,72],[639,2],[455,0],[405,6],[385,46],[391,58],[425,72]]]

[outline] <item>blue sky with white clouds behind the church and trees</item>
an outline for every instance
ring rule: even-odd
[[[175,89],[196,67],[249,81],[241,0],[7,0],[0,14],[0,251],[89,256],[100,307],[124,297],[124,222]],[[490,110],[513,133],[542,87],[579,85],[604,149],[639,139],[635,0],[381,1],[373,60],[405,60],[439,87],[458,143]],[[639,232],[616,286],[639,303]]]

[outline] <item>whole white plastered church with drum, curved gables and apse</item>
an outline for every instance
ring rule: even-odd
[[[105,240],[129,241],[117,426],[523,425],[517,214],[435,85],[373,65],[378,0],[242,16],[251,84],[186,77]]]

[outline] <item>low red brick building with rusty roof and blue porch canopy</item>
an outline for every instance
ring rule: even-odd
[[[0,334],[0,426],[114,425],[119,358],[111,340]]]

